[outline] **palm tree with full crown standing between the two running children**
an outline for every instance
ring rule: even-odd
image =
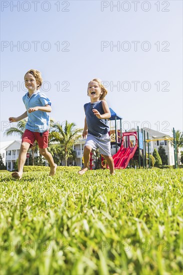
[[[63,123],[62,123],[63,124]],[[55,122],[51,125],[50,141],[59,142],[64,149],[64,160],[67,165],[67,158],[69,157],[72,145],[81,137],[81,128],[75,128],[75,124],[69,123],[67,120],[64,125]]]

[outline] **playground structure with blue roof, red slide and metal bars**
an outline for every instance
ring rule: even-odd
[[[115,153],[112,155],[114,161],[115,169],[124,169],[127,166],[130,167],[130,159],[135,157],[138,162],[138,167],[150,168],[153,167],[153,163],[150,162],[150,153],[149,153],[149,141],[156,140],[172,140],[173,141],[173,151],[174,151],[174,167],[177,168],[177,150],[176,150],[176,139],[175,139],[175,130],[173,128],[173,137],[172,138],[157,138],[149,139],[148,132],[145,133],[144,129],[139,131],[137,126],[137,131],[132,132],[122,132],[121,119],[111,108],[111,117],[109,118],[110,123],[110,144],[115,145]],[[114,126],[111,125],[111,121],[114,120]],[[118,121],[119,120],[119,123]],[[119,129],[117,129],[117,124]],[[147,138],[146,138],[147,137]],[[147,143],[147,153],[146,153],[146,143]],[[92,159],[92,155],[90,156]],[[92,159],[93,160],[93,159]],[[90,168],[92,169],[92,160],[90,163]],[[100,167],[107,168],[106,161],[104,157],[100,156]]]

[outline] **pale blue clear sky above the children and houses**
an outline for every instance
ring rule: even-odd
[[[50,117],[84,126],[87,84],[100,78],[122,131],[182,131],[182,1],[1,0],[0,140],[25,111],[23,77],[35,68]]]

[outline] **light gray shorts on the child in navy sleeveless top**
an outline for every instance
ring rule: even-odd
[[[101,154],[111,156],[110,136],[108,133],[103,134],[100,137],[88,133],[84,146],[89,146],[93,150],[98,148]]]

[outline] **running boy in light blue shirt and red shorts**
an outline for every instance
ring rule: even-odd
[[[49,115],[47,112],[51,111],[51,101],[39,91],[42,77],[38,70],[28,70],[24,75],[24,81],[25,87],[28,89],[22,98],[26,111],[18,117],[9,117],[9,122],[16,122],[28,116],[18,156],[18,171],[12,172],[11,175],[18,179],[22,177],[26,152],[35,140],[38,143],[40,154],[49,162],[49,175],[54,175],[57,165],[54,163],[50,152],[47,151],[49,134]]]

